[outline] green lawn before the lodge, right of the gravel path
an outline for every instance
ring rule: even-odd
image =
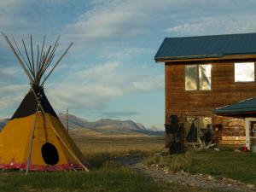
[[[256,185],[256,154],[233,151],[211,151],[197,153],[188,172],[201,172],[215,177],[230,177],[245,183]]]

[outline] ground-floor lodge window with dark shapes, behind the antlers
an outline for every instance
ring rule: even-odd
[[[186,143],[197,143],[199,138],[205,143],[209,143],[212,140],[211,117],[186,117],[184,129]]]

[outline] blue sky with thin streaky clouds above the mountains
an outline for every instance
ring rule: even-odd
[[[57,112],[89,120],[132,119],[163,129],[164,66],[154,54],[166,37],[256,32],[254,0],[9,0],[0,30],[34,44],[73,48],[45,84]],[[10,117],[28,79],[0,38],[0,117]]]

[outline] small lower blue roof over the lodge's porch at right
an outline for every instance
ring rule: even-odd
[[[256,113],[256,97],[236,102],[221,108],[216,108],[213,113],[217,114],[239,114],[239,113]]]

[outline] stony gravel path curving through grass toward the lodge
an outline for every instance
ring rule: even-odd
[[[143,156],[126,155],[115,159],[116,162],[127,166],[137,172],[143,172],[148,177],[153,177],[156,181],[167,183],[179,183],[200,189],[217,189],[221,191],[234,192],[255,192],[253,184],[241,183],[230,178],[216,179],[203,174],[192,175],[188,172],[170,172],[167,167],[160,168],[157,165],[150,167],[143,165]]]

